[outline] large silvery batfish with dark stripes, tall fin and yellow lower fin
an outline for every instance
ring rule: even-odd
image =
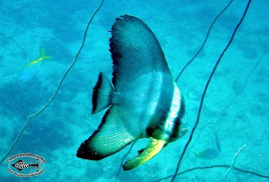
[[[92,96],[92,114],[108,108],[98,129],[76,156],[100,160],[140,138],[149,138],[139,155],[123,164],[133,169],[187,132],[183,97],[156,36],[140,19],[116,19],[109,39],[112,84],[100,72]]]

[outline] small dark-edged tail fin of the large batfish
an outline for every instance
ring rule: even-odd
[[[92,114],[98,113],[111,105],[113,95],[113,87],[108,78],[102,73],[99,73],[98,81],[93,88],[93,110]]]

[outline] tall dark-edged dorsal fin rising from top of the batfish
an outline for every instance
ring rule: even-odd
[[[156,36],[138,18],[129,15],[117,18],[111,33],[112,83],[117,91],[141,74],[170,72]]]

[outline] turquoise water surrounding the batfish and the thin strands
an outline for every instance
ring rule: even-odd
[[[99,1],[1,1],[0,6],[0,158],[28,116],[50,99],[78,51],[87,21]],[[9,154],[34,153],[46,159],[45,172],[21,178],[0,165],[1,181],[113,181],[127,146],[100,161],[75,156],[80,144],[97,129],[105,111],[91,115],[92,90],[102,71],[111,75],[109,37],[121,15],[143,20],[157,36],[174,77],[196,54],[214,18],[228,1],[105,1],[93,19],[74,67],[51,105],[32,119]],[[174,173],[176,163],[196,121],[205,83],[215,62],[239,22],[247,1],[235,0],[213,26],[198,57],[178,79],[186,105],[189,131],[143,165],[121,171],[118,181],[155,181]],[[200,122],[183,158],[180,171],[197,166],[230,165],[268,176],[268,3],[253,1],[234,41],[223,56],[205,97]],[[44,60],[35,74],[19,81],[23,65],[39,58],[40,49],[53,59]],[[257,64],[258,63],[258,64]],[[33,71],[29,70],[29,74]],[[207,149],[218,155],[204,154]],[[130,159],[144,148],[137,142]],[[195,154],[200,154],[197,157]],[[210,157],[206,157],[206,156]],[[125,160],[125,161],[126,161]],[[195,170],[176,181],[224,181],[227,168]],[[164,181],[169,181],[165,179]],[[269,181],[232,169],[227,181]]]

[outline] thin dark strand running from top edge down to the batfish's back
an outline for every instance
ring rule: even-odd
[[[215,24],[215,22],[217,21],[217,19],[220,17],[220,15],[221,15],[221,14],[222,14],[222,13],[229,7],[229,6],[230,6],[230,4],[231,4],[233,1],[234,1],[234,0],[231,0],[231,1],[227,4],[227,6],[226,6],[226,7],[225,7],[225,8],[218,14],[218,16],[216,16],[216,18],[215,18],[214,21],[211,23],[211,25],[210,25],[210,27],[209,27],[209,29],[208,29],[208,31],[207,31],[206,37],[205,37],[204,42],[202,43],[200,49],[199,49],[198,52],[194,55],[194,57],[191,58],[191,59],[189,60],[189,62],[187,62],[187,64],[181,69],[180,73],[177,75],[177,77],[176,77],[176,79],[175,79],[175,82],[177,82],[178,78],[181,76],[181,74],[182,74],[183,71],[186,69],[186,67],[187,67],[191,62],[193,62],[194,59],[195,59],[195,58],[199,55],[199,53],[202,51],[202,49],[204,48],[204,45],[206,44],[206,41],[207,41],[207,39],[208,39],[209,33],[210,33],[210,31],[211,31],[213,25]]]

